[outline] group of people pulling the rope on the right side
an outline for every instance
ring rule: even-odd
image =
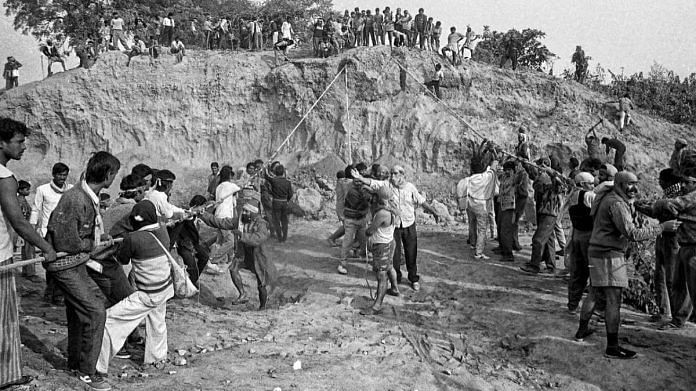
[[[520,269],[534,275],[556,274],[556,258],[563,258],[569,273],[567,309],[580,316],[576,340],[594,333],[590,319],[600,314],[606,325],[605,356],[630,359],[636,353],[619,345],[618,332],[622,290],[628,288],[626,254],[631,242],[657,239],[658,310],[650,320],[661,322],[661,330],[677,329],[691,315],[696,282],[690,276],[696,270],[689,266],[694,246],[690,213],[696,207],[696,171],[693,154],[685,152],[686,141],[677,140],[668,167],[660,172],[662,199],[638,200],[638,178],[625,167],[625,144],[608,137],[600,142],[595,132],[599,124],[587,132],[588,155],[582,161],[572,157],[567,174],[555,155],[531,162],[529,135],[520,128],[515,153],[502,159],[491,150],[487,167],[472,164],[472,175],[457,185],[457,196],[468,216],[468,243],[475,259],[490,258],[484,254],[485,244],[495,237],[499,245],[493,251],[499,260],[515,262],[515,252],[522,250],[518,240],[521,218],[536,221],[531,257]],[[606,146],[605,154],[600,144]],[[605,160],[611,150],[614,159],[610,163]],[[637,211],[656,218],[659,224],[638,225]],[[566,216],[571,224],[569,241],[562,226]],[[492,233],[487,237],[489,228]],[[581,305],[586,290],[589,293]]]

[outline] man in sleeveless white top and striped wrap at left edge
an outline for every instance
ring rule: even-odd
[[[22,158],[25,137],[29,129],[21,122],[0,118],[0,265],[12,263],[12,238],[14,229],[30,244],[39,247],[48,263],[56,260],[56,253],[48,242],[41,239],[34,228],[22,216],[17,200],[17,180],[7,169],[10,160]],[[0,388],[26,384],[32,379],[22,376],[21,342],[19,338],[19,314],[17,292],[12,270],[0,271]]]

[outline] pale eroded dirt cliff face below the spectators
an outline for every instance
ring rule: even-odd
[[[407,64],[419,80],[399,83]],[[202,187],[211,161],[241,167],[268,158],[340,68],[348,69],[290,139],[279,160],[290,168],[328,155],[354,161],[401,163],[417,173],[468,172],[468,140],[478,140],[420,85],[440,57],[389,48],[356,49],[343,57],[303,59],[274,67],[270,53],[190,52],[175,65],[108,53],[89,70],[57,74],[0,95],[0,115],[25,121],[34,133],[21,177],[47,178],[56,161],[74,171],[91,152],[107,149],[126,169],[137,162],[167,167]],[[610,98],[573,83],[531,72],[468,63],[444,64],[444,101],[485,137],[511,149],[516,129],[529,129],[533,153],[582,155],[585,131],[607,112]],[[346,101],[349,103],[346,112]],[[634,114],[637,124],[620,137],[627,163],[654,173],[666,165],[675,137],[696,138],[683,126]],[[599,127],[600,137],[617,133]],[[544,150],[546,152],[544,152]],[[125,170],[124,170],[125,171]],[[76,177],[76,175],[75,175]],[[192,181],[190,182],[193,185]]]

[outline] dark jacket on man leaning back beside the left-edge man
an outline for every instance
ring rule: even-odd
[[[70,269],[89,260],[94,247],[96,217],[92,200],[81,186],[63,194],[48,219],[46,239],[56,252],[69,255],[47,264],[47,271]]]

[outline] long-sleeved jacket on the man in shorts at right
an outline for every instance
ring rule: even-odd
[[[594,214],[590,248],[625,252],[629,242],[647,240],[662,233],[659,225],[637,228],[633,224],[634,214],[633,205],[616,191],[604,196]]]

